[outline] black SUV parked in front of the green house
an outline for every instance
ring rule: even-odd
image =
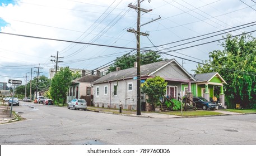
[[[202,108],[203,110],[213,110],[216,108],[216,104],[212,103],[206,99],[204,99],[203,97],[193,97],[193,101],[194,103],[197,104],[197,108]]]

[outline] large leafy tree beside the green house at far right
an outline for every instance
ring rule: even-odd
[[[256,40],[251,35],[232,37],[227,35],[221,43],[224,50],[210,52],[205,65],[198,65],[197,74],[217,71],[225,79],[227,106],[240,104],[244,108],[256,108]]]

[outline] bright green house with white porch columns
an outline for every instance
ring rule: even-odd
[[[227,84],[226,81],[221,77],[218,72],[209,72],[204,74],[195,74],[193,75],[196,81],[192,81],[191,84],[183,84],[182,91],[183,95],[188,95],[189,92],[192,93],[193,96],[202,96],[208,101],[210,101],[210,97],[215,100],[216,96],[219,96],[219,101],[221,105],[225,106],[225,94],[223,91],[223,85]],[[215,89],[220,89],[220,91],[216,91]],[[218,93],[217,93],[218,92]],[[219,94],[219,95],[217,95]]]

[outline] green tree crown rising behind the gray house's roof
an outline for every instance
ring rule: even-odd
[[[141,53],[141,65],[151,64],[153,62],[159,62],[163,59],[155,51],[148,51],[146,53]],[[115,71],[117,67],[122,70],[129,69],[134,66],[134,62],[137,61],[137,55],[125,54],[122,57],[118,57],[113,66],[109,67],[109,71]]]

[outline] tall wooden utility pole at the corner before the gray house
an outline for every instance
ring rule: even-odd
[[[157,19],[153,19],[150,22],[147,22],[143,25],[141,25],[141,11],[142,12],[150,12],[152,11],[152,9],[143,9],[141,8],[141,2],[143,2],[144,0],[138,0],[137,2],[137,6],[134,6],[131,4],[128,5],[129,8],[133,8],[137,10],[137,30],[135,31],[134,28],[129,28],[127,31],[128,32],[133,32],[134,34],[136,34],[136,39],[137,39],[137,115],[141,115],[141,35],[142,36],[148,36],[147,33],[143,33],[141,32],[141,26],[144,26],[150,22],[156,21]],[[148,2],[150,2],[151,0],[149,0]]]

